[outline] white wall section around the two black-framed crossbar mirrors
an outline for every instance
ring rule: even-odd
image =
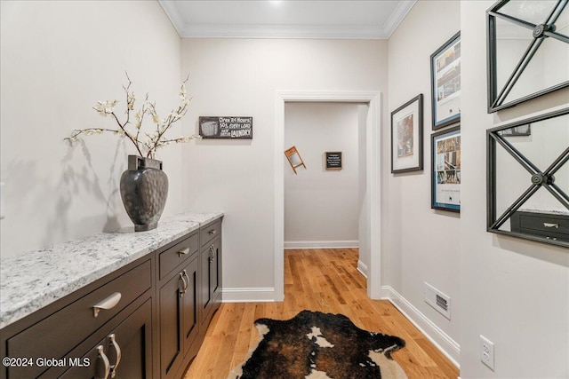
[[[485,132],[499,122],[569,105],[569,90],[486,113],[485,10],[461,2],[461,378],[569,376],[567,249],[485,231]],[[495,344],[495,370],[479,359],[479,336]]]

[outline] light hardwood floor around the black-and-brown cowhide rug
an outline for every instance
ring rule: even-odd
[[[409,378],[456,378],[458,368],[397,308],[367,297],[365,277],[356,267],[357,249],[285,250],[284,302],[222,304],[185,379],[226,379],[259,339],[254,320],[291,319],[305,309],[342,313],[358,328],[405,339],[393,358]]]

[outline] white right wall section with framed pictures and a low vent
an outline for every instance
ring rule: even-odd
[[[389,39],[389,113],[418,94],[423,102],[422,171],[390,173],[389,125],[383,134],[383,180],[387,186],[385,283],[396,291],[397,304],[420,323],[437,343],[459,359],[460,225],[458,214],[430,209],[430,54],[461,28],[457,1],[419,1]],[[425,31],[428,31],[426,33]],[[463,87],[464,89],[464,87]],[[467,142],[468,143],[468,142]],[[479,207],[479,206],[478,206]],[[424,301],[424,282],[451,297],[451,320]],[[391,294],[390,296],[393,296]],[[435,327],[432,330],[432,324]]]

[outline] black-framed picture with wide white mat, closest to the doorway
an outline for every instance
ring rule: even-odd
[[[423,94],[391,112],[391,172],[423,170]]]

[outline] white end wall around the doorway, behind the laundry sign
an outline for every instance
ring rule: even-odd
[[[274,298],[275,92],[386,91],[386,54],[379,40],[182,41],[194,96],[187,131],[196,130],[199,115],[253,117],[252,140],[184,148],[186,206],[226,214],[225,299],[245,292]]]

